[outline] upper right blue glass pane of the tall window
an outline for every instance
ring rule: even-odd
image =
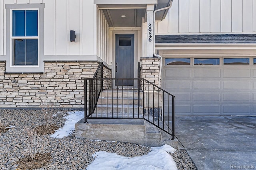
[[[26,36],[38,35],[37,10],[26,11]]]

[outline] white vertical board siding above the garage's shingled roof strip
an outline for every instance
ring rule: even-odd
[[[256,0],[174,0],[156,33],[256,31]]]

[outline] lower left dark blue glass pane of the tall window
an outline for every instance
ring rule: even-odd
[[[26,39],[14,39],[13,40],[13,51],[14,51],[14,65],[25,65],[26,64]]]

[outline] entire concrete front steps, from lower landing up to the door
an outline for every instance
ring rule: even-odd
[[[170,135],[163,135],[165,132],[143,119],[154,122],[152,115],[143,117],[142,97],[143,92],[140,92],[138,98],[136,90],[104,90],[87,123],[83,123],[82,119],[75,124],[75,137],[130,142],[151,147],[168,144],[177,148],[178,141],[171,141]]]

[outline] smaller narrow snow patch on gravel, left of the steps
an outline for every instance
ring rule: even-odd
[[[70,111],[64,117],[66,119],[64,127],[58,129],[51,137],[63,138],[75,130],[75,123],[84,118],[84,111]]]

